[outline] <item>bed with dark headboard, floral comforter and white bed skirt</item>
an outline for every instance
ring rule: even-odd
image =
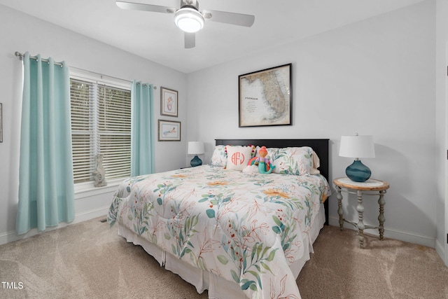
[[[216,163],[218,149],[230,163],[258,146],[276,173]],[[295,279],[328,224],[329,195],[328,139],[216,139],[210,164],[123,181],[107,220],[209,298],[300,298]]]

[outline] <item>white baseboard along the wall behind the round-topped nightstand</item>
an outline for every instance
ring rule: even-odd
[[[330,216],[329,223],[330,225],[339,226],[339,217]],[[355,230],[355,227],[350,223],[344,223],[344,229]],[[368,229],[365,230],[365,232],[368,233],[369,235],[379,235],[378,230]],[[415,235],[410,232],[402,232],[400,230],[391,230],[388,228],[384,228],[384,237],[390,239],[398,239],[403,242],[428,246],[435,249],[435,237],[433,238],[433,237]]]

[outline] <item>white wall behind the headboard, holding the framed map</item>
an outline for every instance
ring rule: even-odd
[[[293,125],[238,127],[238,75],[293,64]],[[372,178],[388,181],[386,237],[435,246],[435,2],[426,1],[188,75],[188,138],[330,138],[330,179],[351,163],[343,134],[372,134]],[[197,112],[200,111],[200,112]],[[191,132],[191,133],[190,133]],[[377,198],[364,221],[377,223]],[[344,216],[357,219],[356,198]],[[337,202],[330,197],[330,224]],[[374,233],[374,230],[367,230]]]

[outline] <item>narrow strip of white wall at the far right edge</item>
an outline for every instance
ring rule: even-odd
[[[447,190],[447,99],[448,99],[448,1],[436,1],[436,155],[435,178],[437,178],[436,218],[437,239],[435,249],[448,265],[448,190]]]

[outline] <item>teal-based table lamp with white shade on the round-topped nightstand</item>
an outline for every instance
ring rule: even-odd
[[[363,165],[359,158],[375,158],[373,137],[370,135],[342,136],[339,146],[339,156],[355,158],[353,164],[345,169],[346,176],[351,181],[364,182],[370,178],[372,172]]]

